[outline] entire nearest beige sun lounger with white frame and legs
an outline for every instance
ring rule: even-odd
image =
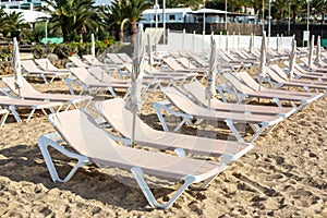
[[[153,207],[166,209],[190,185],[203,182],[202,185],[206,186],[227,168],[223,164],[120,146],[82,110],[53,113],[49,116],[49,120],[64,142],[78,153],[69,152],[47,135],[38,138],[39,148],[53,182],[69,181],[80,167],[89,162],[94,162],[97,167],[131,170],[148,203]],[[77,159],[77,164],[64,179],[58,175],[48,150],[49,146]],[[144,173],[184,181],[184,184],[168,202],[159,204],[147,185]]]

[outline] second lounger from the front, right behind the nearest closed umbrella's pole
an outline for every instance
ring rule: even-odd
[[[130,110],[125,109],[125,101],[123,99],[114,98],[96,102],[95,107],[113,130],[131,142],[133,114]],[[158,149],[171,149],[179,156],[185,156],[189,153],[221,157],[222,162],[227,165],[232,160],[239,159],[253,148],[253,145],[249,143],[158,131],[147,125],[138,117],[136,117],[135,123],[134,142],[136,144]]]

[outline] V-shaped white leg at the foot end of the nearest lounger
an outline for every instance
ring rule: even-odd
[[[184,184],[174,193],[174,195],[166,203],[166,204],[159,204],[154,194],[152,193],[149,186],[147,185],[146,181],[143,178],[143,171],[138,167],[133,167],[131,169],[138,186],[141,187],[144,196],[146,197],[147,202],[152,207],[167,209],[169,206],[171,206],[177,198],[192,184],[195,182],[195,179],[193,177],[189,177],[184,180]]]

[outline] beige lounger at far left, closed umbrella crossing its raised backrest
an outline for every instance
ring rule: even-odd
[[[85,108],[88,106],[92,96],[74,96],[74,95],[62,95],[62,94],[49,94],[49,93],[40,93],[36,90],[25,78],[22,77],[22,87],[20,90],[15,86],[14,76],[2,77],[2,82],[15,94],[20,95],[24,99],[32,100],[47,100],[47,101],[60,101],[66,102],[66,110],[73,106],[77,108],[77,105],[81,102],[85,102]]]

